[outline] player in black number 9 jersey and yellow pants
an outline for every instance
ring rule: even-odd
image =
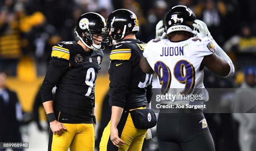
[[[78,42],[59,42],[41,87],[50,123],[48,151],[94,151],[95,80],[102,61],[105,19],[88,12],[76,22]],[[56,86],[53,101],[51,89]]]

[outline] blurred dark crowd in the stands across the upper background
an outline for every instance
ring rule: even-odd
[[[207,24],[236,69],[256,63],[255,0],[1,0],[0,68],[15,76],[24,56],[32,57],[41,68],[49,61],[54,43],[77,40],[74,24],[85,12],[107,18],[113,10],[131,10],[139,19],[137,37],[148,42],[155,37],[157,22],[175,5],[190,7]],[[41,68],[37,75],[44,76],[45,71]]]

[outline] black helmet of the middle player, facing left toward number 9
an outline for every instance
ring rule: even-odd
[[[138,18],[131,10],[115,10],[107,19],[108,35],[107,42],[112,45],[113,42],[123,39],[123,37],[131,32],[137,33],[139,31]],[[118,33],[118,30],[120,32]]]

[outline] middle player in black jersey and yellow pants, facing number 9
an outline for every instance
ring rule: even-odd
[[[144,109],[151,100],[152,74],[145,74],[139,61],[145,43],[136,39],[138,18],[130,10],[112,12],[107,19],[110,53],[109,104],[111,119],[100,141],[100,151],[141,151],[147,129],[137,129],[129,111]]]

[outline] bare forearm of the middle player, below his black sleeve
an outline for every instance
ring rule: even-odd
[[[123,108],[112,106],[110,127],[117,127],[123,113]]]

